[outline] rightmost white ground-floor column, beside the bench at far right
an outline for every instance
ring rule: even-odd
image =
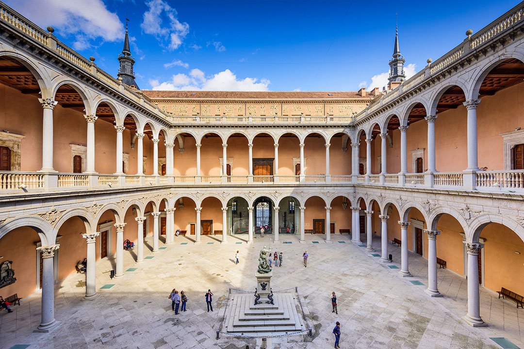
[[[480,291],[478,288],[478,254],[481,253],[484,244],[466,244],[467,251],[467,314],[464,317],[467,323],[473,327],[484,327],[486,323],[481,318]]]

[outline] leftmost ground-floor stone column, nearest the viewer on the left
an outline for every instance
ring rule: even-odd
[[[38,330],[49,332],[58,322],[54,320],[54,251],[60,245],[38,247],[42,254],[42,314]]]

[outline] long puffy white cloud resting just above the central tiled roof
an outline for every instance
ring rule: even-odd
[[[270,83],[267,79],[261,79],[259,81],[253,77],[246,77],[239,80],[229,69],[208,77],[206,77],[201,70],[193,69],[189,75],[173,75],[170,81],[160,83],[158,80],[149,80],[152,89],[167,91],[269,91],[268,85]]]

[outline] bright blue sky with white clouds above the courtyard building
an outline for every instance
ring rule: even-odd
[[[398,14],[407,73],[517,0],[7,0],[108,73],[126,15],[141,89],[356,91],[383,86]],[[380,75],[383,74],[383,75]]]

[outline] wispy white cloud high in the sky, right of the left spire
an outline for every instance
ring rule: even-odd
[[[140,28],[145,33],[157,37],[162,44],[168,41],[169,50],[178,49],[189,33],[189,24],[180,22],[177,10],[162,0],[151,0],[146,5],[149,9],[144,13]],[[165,16],[162,16],[163,13]],[[164,21],[167,22],[166,26],[163,26]]]

